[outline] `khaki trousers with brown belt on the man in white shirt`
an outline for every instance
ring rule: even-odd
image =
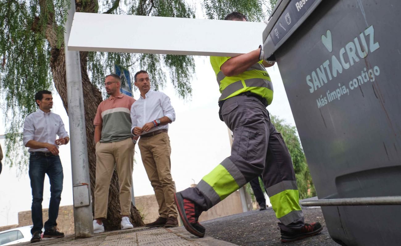
[[[170,138],[167,132],[141,137],[138,145],[142,162],[156,195],[160,217],[177,217],[174,203],[175,185],[170,173]]]

